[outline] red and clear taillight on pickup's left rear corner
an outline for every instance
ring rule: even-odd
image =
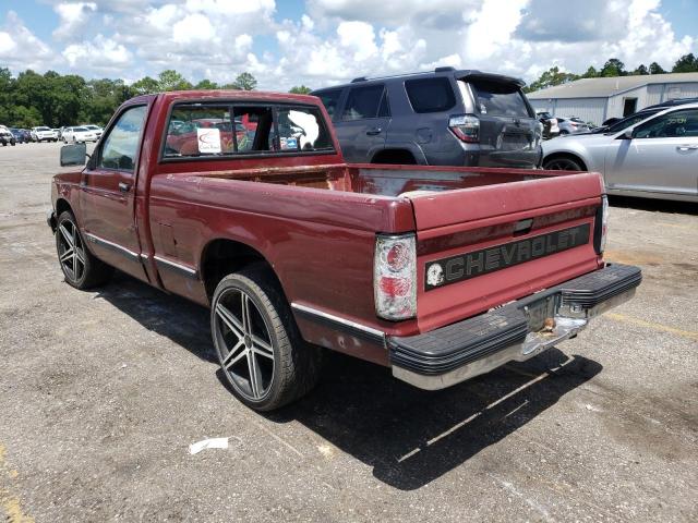
[[[414,234],[381,235],[373,262],[375,313],[384,319],[417,316],[417,242]]]

